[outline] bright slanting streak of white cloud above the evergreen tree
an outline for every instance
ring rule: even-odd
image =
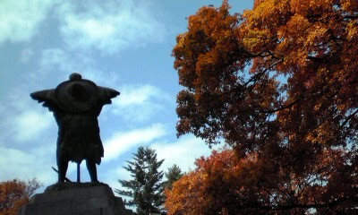
[[[132,147],[148,144],[165,134],[164,126],[160,124],[149,125],[148,127],[134,129],[125,133],[114,133],[112,137],[104,142],[106,158],[104,161],[117,159],[124,152],[131,150]]]

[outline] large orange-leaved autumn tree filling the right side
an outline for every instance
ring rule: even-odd
[[[255,157],[232,172],[245,178],[236,207],[221,207],[356,212],[358,2],[258,0],[243,14],[229,9],[227,1],[200,8],[173,50],[184,87],[178,135],[225,140],[238,164]]]

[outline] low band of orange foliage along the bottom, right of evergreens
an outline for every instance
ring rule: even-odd
[[[166,210],[169,215],[306,214],[315,208],[323,214],[352,214],[357,197],[346,193],[356,192],[358,181],[344,164],[349,156],[343,150],[325,150],[320,162],[299,176],[256,155],[238,159],[234,150],[214,150],[166,189]]]

